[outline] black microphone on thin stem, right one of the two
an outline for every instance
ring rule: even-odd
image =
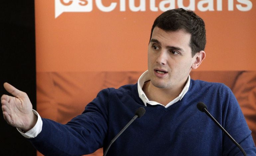
[[[201,111],[205,112],[218,126],[219,128],[236,144],[236,146],[243,152],[244,156],[246,156],[246,153],[244,149],[233,139],[232,136],[230,136],[227,131],[218,123],[218,121],[207,111],[207,107],[203,102],[198,102],[196,107]]]

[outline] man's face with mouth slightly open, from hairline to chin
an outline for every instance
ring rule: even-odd
[[[148,47],[148,70],[155,87],[184,87],[197,56],[192,58],[190,38],[191,34],[183,30],[154,28]]]

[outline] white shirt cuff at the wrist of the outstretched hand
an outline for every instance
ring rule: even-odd
[[[32,111],[38,117],[36,125],[26,133],[23,133],[24,131],[22,131],[20,128],[17,128],[17,130],[20,132],[20,134],[26,138],[36,137],[42,131],[42,127],[43,127],[43,121],[42,121],[40,115],[38,114],[38,112],[35,111],[34,109]]]

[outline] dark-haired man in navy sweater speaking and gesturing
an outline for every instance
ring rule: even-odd
[[[223,84],[190,79],[205,58],[205,26],[192,11],[173,9],[154,22],[148,70],[135,85],[100,91],[81,115],[65,125],[41,119],[26,93],[5,83],[14,97],[1,97],[5,120],[45,155],[83,155],[110,141],[139,107],[146,113],[111,146],[108,155],[243,155],[196,104],[202,101],[244,148],[256,155],[244,116]]]

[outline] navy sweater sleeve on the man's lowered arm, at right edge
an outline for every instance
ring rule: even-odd
[[[225,85],[222,85],[219,94],[222,103],[222,126],[241,145],[247,156],[255,156],[256,148],[251,131],[234,94]],[[222,145],[223,155],[243,156],[240,149],[224,133]]]

